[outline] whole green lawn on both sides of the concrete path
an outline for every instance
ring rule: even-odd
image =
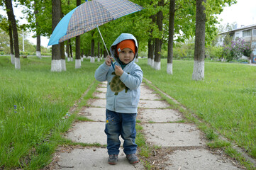
[[[193,61],[174,60],[173,75],[166,73],[167,60],[161,62],[160,71],[147,59],[138,64],[157,88],[256,157],[256,67],[206,62],[204,81],[193,81]],[[76,119],[69,109],[98,84],[99,62],[84,60],[81,69],[66,62],[66,72],[50,72],[50,64],[50,57],[21,58],[16,70],[10,57],[0,56],[0,169],[49,164],[56,147],[67,142],[62,133]]]

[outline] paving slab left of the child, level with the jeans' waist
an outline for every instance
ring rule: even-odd
[[[91,120],[98,122],[106,121],[106,108],[87,108],[84,107],[79,112],[79,115],[85,116]]]

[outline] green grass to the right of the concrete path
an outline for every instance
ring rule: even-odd
[[[173,62],[173,75],[140,60],[144,77],[154,86],[206,121],[214,130],[243,147],[256,158],[256,67],[245,64],[205,62],[204,81],[193,81],[193,61]],[[208,138],[214,138],[208,132]]]

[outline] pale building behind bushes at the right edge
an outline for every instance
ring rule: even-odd
[[[227,32],[219,33],[218,35],[221,36],[218,38],[218,45],[223,45],[223,39],[227,34],[232,37],[232,40],[236,40],[237,38],[245,40],[245,42],[248,43],[252,49],[251,62],[256,63],[256,24],[242,26]]]

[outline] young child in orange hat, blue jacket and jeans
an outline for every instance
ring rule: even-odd
[[[107,56],[95,72],[95,79],[108,81],[106,91],[106,128],[108,164],[118,162],[118,153],[123,138],[123,152],[130,164],[138,163],[135,144],[137,107],[140,100],[140,84],[143,71],[135,64],[138,55],[136,38],[122,33],[110,48],[116,62],[111,66],[112,57]],[[113,69],[113,67],[115,69]]]

